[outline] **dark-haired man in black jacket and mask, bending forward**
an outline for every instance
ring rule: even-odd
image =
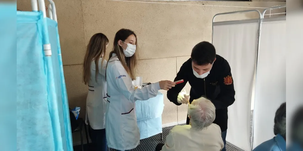
[[[225,151],[227,133],[227,107],[235,101],[234,81],[231,67],[227,60],[216,54],[215,47],[206,41],[198,43],[188,59],[180,68],[174,81],[184,80],[183,83],[167,91],[167,98],[176,105],[187,104],[204,96],[216,107],[214,124],[221,128]],[[190,94],[180,93],[189,82]],[[190,96],[190,97],[189,97]],[[185,116],[185,115],[184,115]],[[187,117],[186,124],[190,124]]]

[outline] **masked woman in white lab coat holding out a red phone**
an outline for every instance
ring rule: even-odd
[[[160,89],[169,90],[175,86],[174,82],[166,80],[141,89],[134,88],[132,81],[136,79],[136,41],[133,31],[119,30],[106,67],[106,139],[110,148],[120,151],[136,148],[140,143],[135,101],[148,100],[157,96]]]

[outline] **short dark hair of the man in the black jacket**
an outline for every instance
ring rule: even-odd
[[[193,48],[190,55],[192,61],[199,65],[208,65],[212,64],[216,58],[216,49],[213,44],[203,41]]]

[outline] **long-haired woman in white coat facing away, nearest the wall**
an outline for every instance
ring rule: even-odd
[[[83,64],[83,81],[88,85],[86,98],[86,119],[90,138],[95,150],[106,151],[105,110],[106,110],[106,60],[103,55],[109,40],[102,33],[94,34],[87,46]]]

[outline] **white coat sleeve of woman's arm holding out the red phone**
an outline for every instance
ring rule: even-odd
[[[157,96],[158,91],[160,90],[159,82],[144,86],[141,89],[135,89],[132,79],[120,63],[112,66],[111,70],[113,73],[112,76],[115,76],[116,78],[117,88],[119,88],[119,91],[132,103],[137,100],[143,101],[153,98]]]

